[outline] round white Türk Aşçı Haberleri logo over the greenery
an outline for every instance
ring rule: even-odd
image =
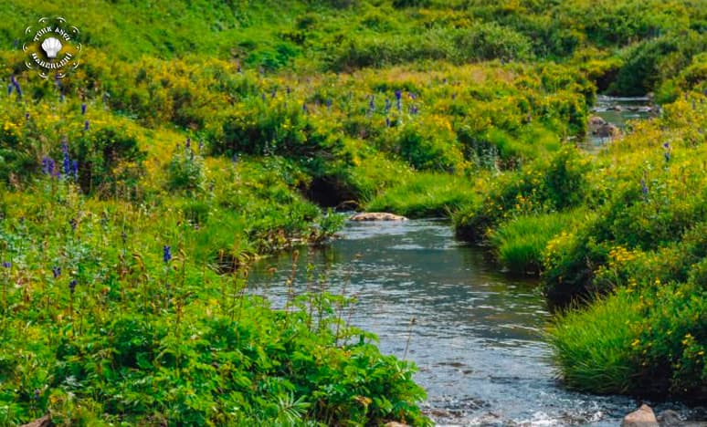
[[[79,67],[79,28],[69,26],[61,16],[43,17],[39,26],[27,26],[22,50],[26,68],[37,70],[43,78],[64,78]]]

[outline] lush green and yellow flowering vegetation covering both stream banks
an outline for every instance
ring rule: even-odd
[[[41,78],[19,40],[80,28]],[[561,307],[565,384],[707,401],[707,8],[618,0],[0,8],[0,424],[427,424],[412,363],[248,263],[324,208],[448,216]],[[597,154],[597,93],[660,109]],[[293,259],[293,263],[299,262]]]

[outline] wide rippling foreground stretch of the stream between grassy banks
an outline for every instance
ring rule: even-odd
[[[351,322],[374,332],[384,353],[417,364],[423,407],[438,425],[617,426],[638,407],[566,390],[543,338],[551,315],[537,282],[505,275],[483,248],[456,241],[448,223],[349,222],[342,239],[302,251],[295,291],[305,291],[311,263],[329,291],[355,295]],[[259,261],[250,292],[282,307],[290,270],[288,253]],[[651,406],[698,416],[677,403]]]

